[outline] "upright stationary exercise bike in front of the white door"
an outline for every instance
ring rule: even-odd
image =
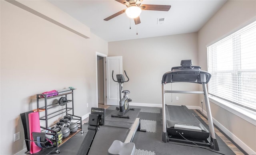
[[[128,78],[128,76],[126,74],[126,71],[124,71],[124,73],[125,73],[126,77]],[[113,74],[114,74],[114,71],[112,71],[112,78],[114,80]],[[119,107],[116,107],[116,110],[119,110],[118,114],[117,115],[116,114],[112,114],[111,117],[130,118],[129,116],[124,116],[126,114],[126,112],[128,112],[129,110],[134,110],[134,108],[129,108],[129,102],[132,102],[132,99],[128,98],[128,95],[126,95],[126,94],[129,94],[130,91],[129,90],[123,90],[121,92],[121,90],[122,90],[122,83],[128,82],[129,78],[128,78],[128,80],[125,80],[124,75],[117,74],[116,75],[116,80],[114,80],[114,81],[119,83],[120,101],[119,101]],[[124,93],[124,96],[121,99],[122,93]]]

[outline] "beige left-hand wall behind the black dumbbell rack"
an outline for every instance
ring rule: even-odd
[[[74,86],[78,116],[96,106],[96,51],[108,43],[85,39],[6,1],[1,3],[1,155],[25,148],[19,114],[36,108],[36,94]],[[86,108],[89,103],[89,108]],[[20,132],[20,140],[13,135]],[[4,141],[4,142],[3,142]]]

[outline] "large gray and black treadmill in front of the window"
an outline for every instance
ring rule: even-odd
[[[219,150],[206,88],[206,84],[209,82],[211,75],[206,71],[201,71],[200,66],[192,66],[192,60],[182,60],[180,65],[181,66],[178,67],[172,67],[172,70],[165,73],[162,77],[162,139],[165,143],[175,141],[208,146],[214,150]],[[172,82],[193,82],[202,84],[203,91],[165,90],[165,84]],[[165,93],[204,94],[210,131],[204,127],[186,106],[166,105]]]

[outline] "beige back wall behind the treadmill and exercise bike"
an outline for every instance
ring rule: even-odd
[[[182,59],[192,59],[193,64],[198,65],[197,33],[109,42],[108,56],[123,57],[123,70],[130,78],[124,83],[124,89],[130,90],[132,102],[162,104],[162,75],[179,66]],[[170,90],[170,86],[166,84],[166,90]],[[198,90],[198,86],[173,83],[172,89]],[[197,94],[172,94],[172,98],[171,102],[170,94],[166,103],[198,106]]]

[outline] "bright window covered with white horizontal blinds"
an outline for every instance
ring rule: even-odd
[[[207,47],[208,92],[256,112],[256,21]]]

